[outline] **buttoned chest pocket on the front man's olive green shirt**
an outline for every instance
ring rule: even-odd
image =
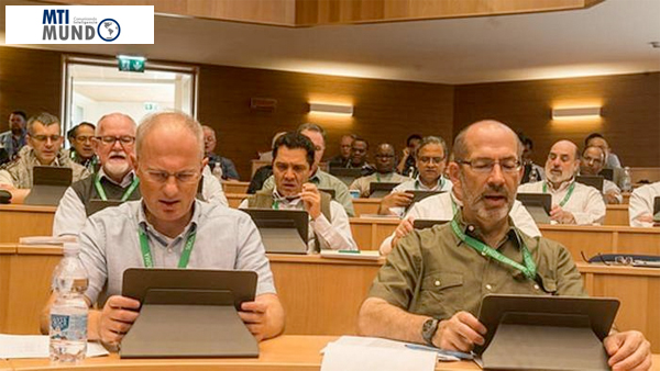
[[[462,273],[429,273],[421,281],[417,312],[436,318],[448,318],[464,308],[463,297]]]

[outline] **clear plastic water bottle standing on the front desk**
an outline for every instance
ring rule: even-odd
[[[82,293],[87,290],[87,271],[78,259],[78,244],[64,245],[64,259],[53,273],[57,294],[51,306],[51,360],[75,363],[87,352],[87,315],[89,307]]]

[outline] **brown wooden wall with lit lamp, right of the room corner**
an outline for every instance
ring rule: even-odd
[[[560,104],[602,104],[602,119],[551,121],[552,106]],[[487,117],[530,136],[537,164],[544,164],[554,142],[582,147],[586,135],[601,132],[625,166],[660,166],[660,72],[457,86],[454,135]]]

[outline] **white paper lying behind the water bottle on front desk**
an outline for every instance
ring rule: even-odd
[[[87,342],[87,357],[108,356],[98,342]],[[48,337],[45,335],[0,334],[0,358],[48,358]]]

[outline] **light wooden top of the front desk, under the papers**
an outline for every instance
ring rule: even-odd
[[[320,350],[337,339],[334,336],[280,336],[260,345],[256,359],[152,359],[122,360],[117,355],[91,358],[76,370],[320,370],[322,356]],[[46,359],[26,359],[9,361],[14,370],[62,370],[65,367],[52,367]],[[2,363],[0,363],[0,368]],[[438,363],[436,370],[480,370],[472,362]]]

